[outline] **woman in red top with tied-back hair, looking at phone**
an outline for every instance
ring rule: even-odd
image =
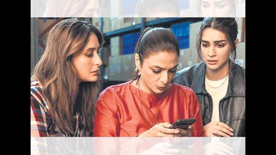
[[[179,44],[165,28],[147,28],[135,47],[136,78],[101,92],[94,136],[204,136],[193,90],[172,82]],[[187,130],[170,129],[177,119],[196,118]]]

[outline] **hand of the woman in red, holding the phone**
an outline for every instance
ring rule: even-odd
[[[147,136],[147,137],[179,137],[180,129],[171,129],[169,128],[172,124],[168,122],[159,123],[154,125],[149,130],[140,133],[138,136]],[[183,134],[188,134],[184,131],[182,131]]]

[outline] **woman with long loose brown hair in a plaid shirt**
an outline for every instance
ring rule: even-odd
[[[31,76],[31,136],[91,136],[103,43],[85,21],[53,27]]]

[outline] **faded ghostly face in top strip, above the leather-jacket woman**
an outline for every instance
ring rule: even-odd
[[[232,2],[235,0],[201,0],[202,17],[229,17],[233,12]]]

